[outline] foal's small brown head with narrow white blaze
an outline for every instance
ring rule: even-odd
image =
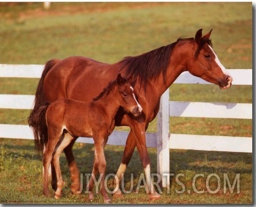
[[[122,78],[120,73],[117,76],[118,91],[120,93],[120,105],[125,111],[131,112],[134,116],[141,115],[142,107],[138,103],[131,83]]]

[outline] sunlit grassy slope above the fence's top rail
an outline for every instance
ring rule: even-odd
[[[53,5],[51,11],[9,11],[16,18],[1,18],[1,63],[44,64],[74,55],[113,63],[213,28],[222,64],[252,68],[251,3],[79,3],[77,12]]]

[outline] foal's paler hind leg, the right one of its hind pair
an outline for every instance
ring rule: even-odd
[[[62,136],[64,136],[63,141],[61,141],[60,146],[58,146],[58,148],[56,149],[56,152],[53,156],[53,165],[56,170],[56,179],[57,179],[57,189],[54,193],[54,198],[57,198],[57,199],[60,198],[62,187],[65,184],[63,182],[62,175],[61,175],[60,154],[63,151],[63,149],[65,149],[65,147],[67,147],[68,144],[70,144],[70,142],[72,142],[72,140],[74,140],[74,137],[72,137],[69,134],[66,134],[66,135],[63,134]]]

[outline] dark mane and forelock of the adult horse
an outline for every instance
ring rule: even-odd
[[[133,80],[139,78],[141,85],[144,84],[144,89],[146,89],[147,80],[156,79],[161,73],[163,75],[163,82],[166,82],[166,73],[167,68],[170,65],[170,56],[172,55],[174,46],[181,41],[195,41],[195,38],[179,37],[176,42],[173,42],[167,46],[159,47],[138,56],[125,57],[122,61],[120,61],[122,68],[127,67],[125,77],[132,77]],[[195,52],[195,58],[197,58],[204,44],[209,44],[212,46],[212,42],[209,39],[202,38],[202,41]]]

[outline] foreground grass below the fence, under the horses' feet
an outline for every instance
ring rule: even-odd
[[[63,195],[60,199],[45,198],[42,195],[42,162],[37,157],[34,151],[33,141],[27,140],[10,140],[2,139],[0,147],[0,202],[11,203],[44,203],[44,204],[61,204],[61,203],[76,203],[76,204],[98,204],[103,203],[100,195],[96,195],[94,201],[88,201],[88,196],[84,191],[82,194],[75,196],[70,193],[70,177],[68,173],[67,161],[64,156],[61,156],[61,170],[65,187]],[[107,160],[106,173],[115,173],[124,147],[106,146],[105,154]],[[156,166],[156,149],[148,149],[152,168],[151,173],[157,173]],[[74,153],[77,163],[80,168],[80,173],[84,175],[83,187],[86,187],[85,173],[91,173],[93,164],[93,145],[79,144],[74,146]],[[116,159],[113,159],[116,157]],[[122,199],[113,199],[113,204],[125,203],[167,203],[167,204],[217,204],[217,203],[252,203],[252,154],[251,153],[225,153],[225,152],[207,152],[207,151],[191,151],[191,150],[170,150],[170,173],[174,176],[170,177],[171,186],[169,192],[167,189],[162,190],[162,199],[157,201],[148,200],[143,187],[136,194],[139,176],[143,173],[143,169],[138,167],[139,155],[135,151],[131,163],[125,172],[126,191],[130,189],[131,173],[134,176],[132,182],[133,188],[131,194],[124,194]],[[182,173],[184,177],[179,180],[184,184],[186,191],[182,194],[176,191],[181,191],[181,185],[177,184],[175,177]],[[196,189],[204,190],[203,194],[196,194],[193,190],[192,180],[197,173],[203,173],[204,177],[196,179]],[[208,175],[215,173],[219,176],[221,189],[215,194],[211,194],[206,188],[206,179]],[[234,191],[230,192],[227,187],[227,192],[224,193],[223,176],[227,174],[231,185],[234,183],[236,174],[240,174],[240,192],[237,193],[237,185]],[[112,179],[108,180],[108,187],[111,188]],[[217,188],[217,180],[211,179],[209,182],[210,189],[214,191]],[[191,193],[188,193],[188,190]],[[51,191],[53,193],[53,191]],[[110,195],[111,196],[111,195]]]

